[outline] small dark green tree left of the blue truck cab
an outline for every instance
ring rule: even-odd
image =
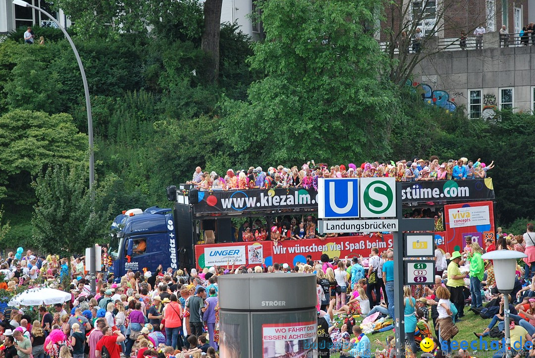
[[[50,166],[33,183],[37,204],[32,218],[33,239],[47,253],[83,253],[109,230],[111,206],[104,186],[91,193],[83,165]],[[91,199],[94,196],[94,199]]]

